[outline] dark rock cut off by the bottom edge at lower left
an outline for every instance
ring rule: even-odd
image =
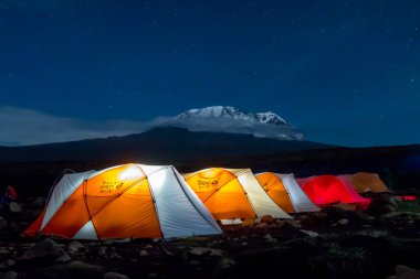
[[[71,278],[101,278],[104,268],[96,265],[73,260],[67,264],[43,268],[34,273],[33,278],[71,279]],[[31,277],[32,278],[32,277]]]

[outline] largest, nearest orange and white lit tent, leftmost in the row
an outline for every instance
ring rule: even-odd
[[[221,229],[174,167],[123,164],[64,174],[23,235],[38,234],[73,239],[179,238]]]

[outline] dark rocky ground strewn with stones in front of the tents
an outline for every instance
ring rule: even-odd
[[[420,278],[420,212],[388,195],[366,212],[332,206],[174,242],[21,237],[43,203],[3,208],[0,278]]]

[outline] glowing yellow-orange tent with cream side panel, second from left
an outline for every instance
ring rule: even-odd
[[[218,221],[255,219],[264,215],[292,218],[265,193],[250,169],[211,168],[183,174]]]

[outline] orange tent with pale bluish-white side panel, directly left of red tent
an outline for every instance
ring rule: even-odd
[[[292,173],[263,172],[256,180],[273,201],[287,213],[316,212],[319,208],[307,197]]]

